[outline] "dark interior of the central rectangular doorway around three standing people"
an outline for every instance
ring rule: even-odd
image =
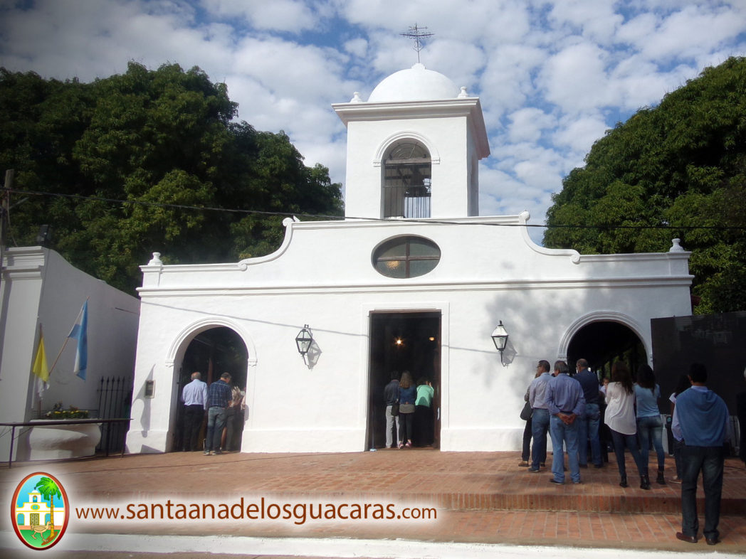
[[[428,379],[433,383],[433,447],[439,448],[440,312],[374,312],[370,320],[368,447],[386,446],[383,388],[392,371],[401,376],[404,370],[409,370],[415,382]]]

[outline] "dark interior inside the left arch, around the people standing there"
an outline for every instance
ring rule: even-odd
[[[190,382],[192,373],[199,371],[202,380],[211,383],[220,379],[222,373],[231,373],[231,385],[237,386],[242,391],[246,389],[246,367],[248,363],[248,351],[246,344],[236,332],[225,326],[211,328],[200,332],[189,343],[181,361],[178,373],[178,404],[176,405],[176,424],[172,450],[182,449],[184,443],[184,404],[181,402],[181,391],[184,385]],[[227,444],[233,448],[241,447],[241,435],[243,431],[243,415],[240,417],[229,416],[232,421],[231,438],[225,433]],[[207,418],[202,422],[199,440],[204,439],[207,429]]]

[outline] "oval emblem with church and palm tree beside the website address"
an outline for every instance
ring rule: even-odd
[[[70,510],[60,481],[44,472],[26,476],[13,493],[13,529],[25,546],[49,549],[62,539]]]

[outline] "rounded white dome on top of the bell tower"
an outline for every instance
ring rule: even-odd
[[[410,69],[395,72],[381,81],[373,89],[368,102],[434,101],[455,99],[458,95],[459,88],[453,81],[418,63]]]

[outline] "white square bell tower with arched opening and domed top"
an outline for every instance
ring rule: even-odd
[[[479,215],[478,162],[489,156],[479,98],[417,63],[363,101],[333,104],[347,127],[347,218]]]

